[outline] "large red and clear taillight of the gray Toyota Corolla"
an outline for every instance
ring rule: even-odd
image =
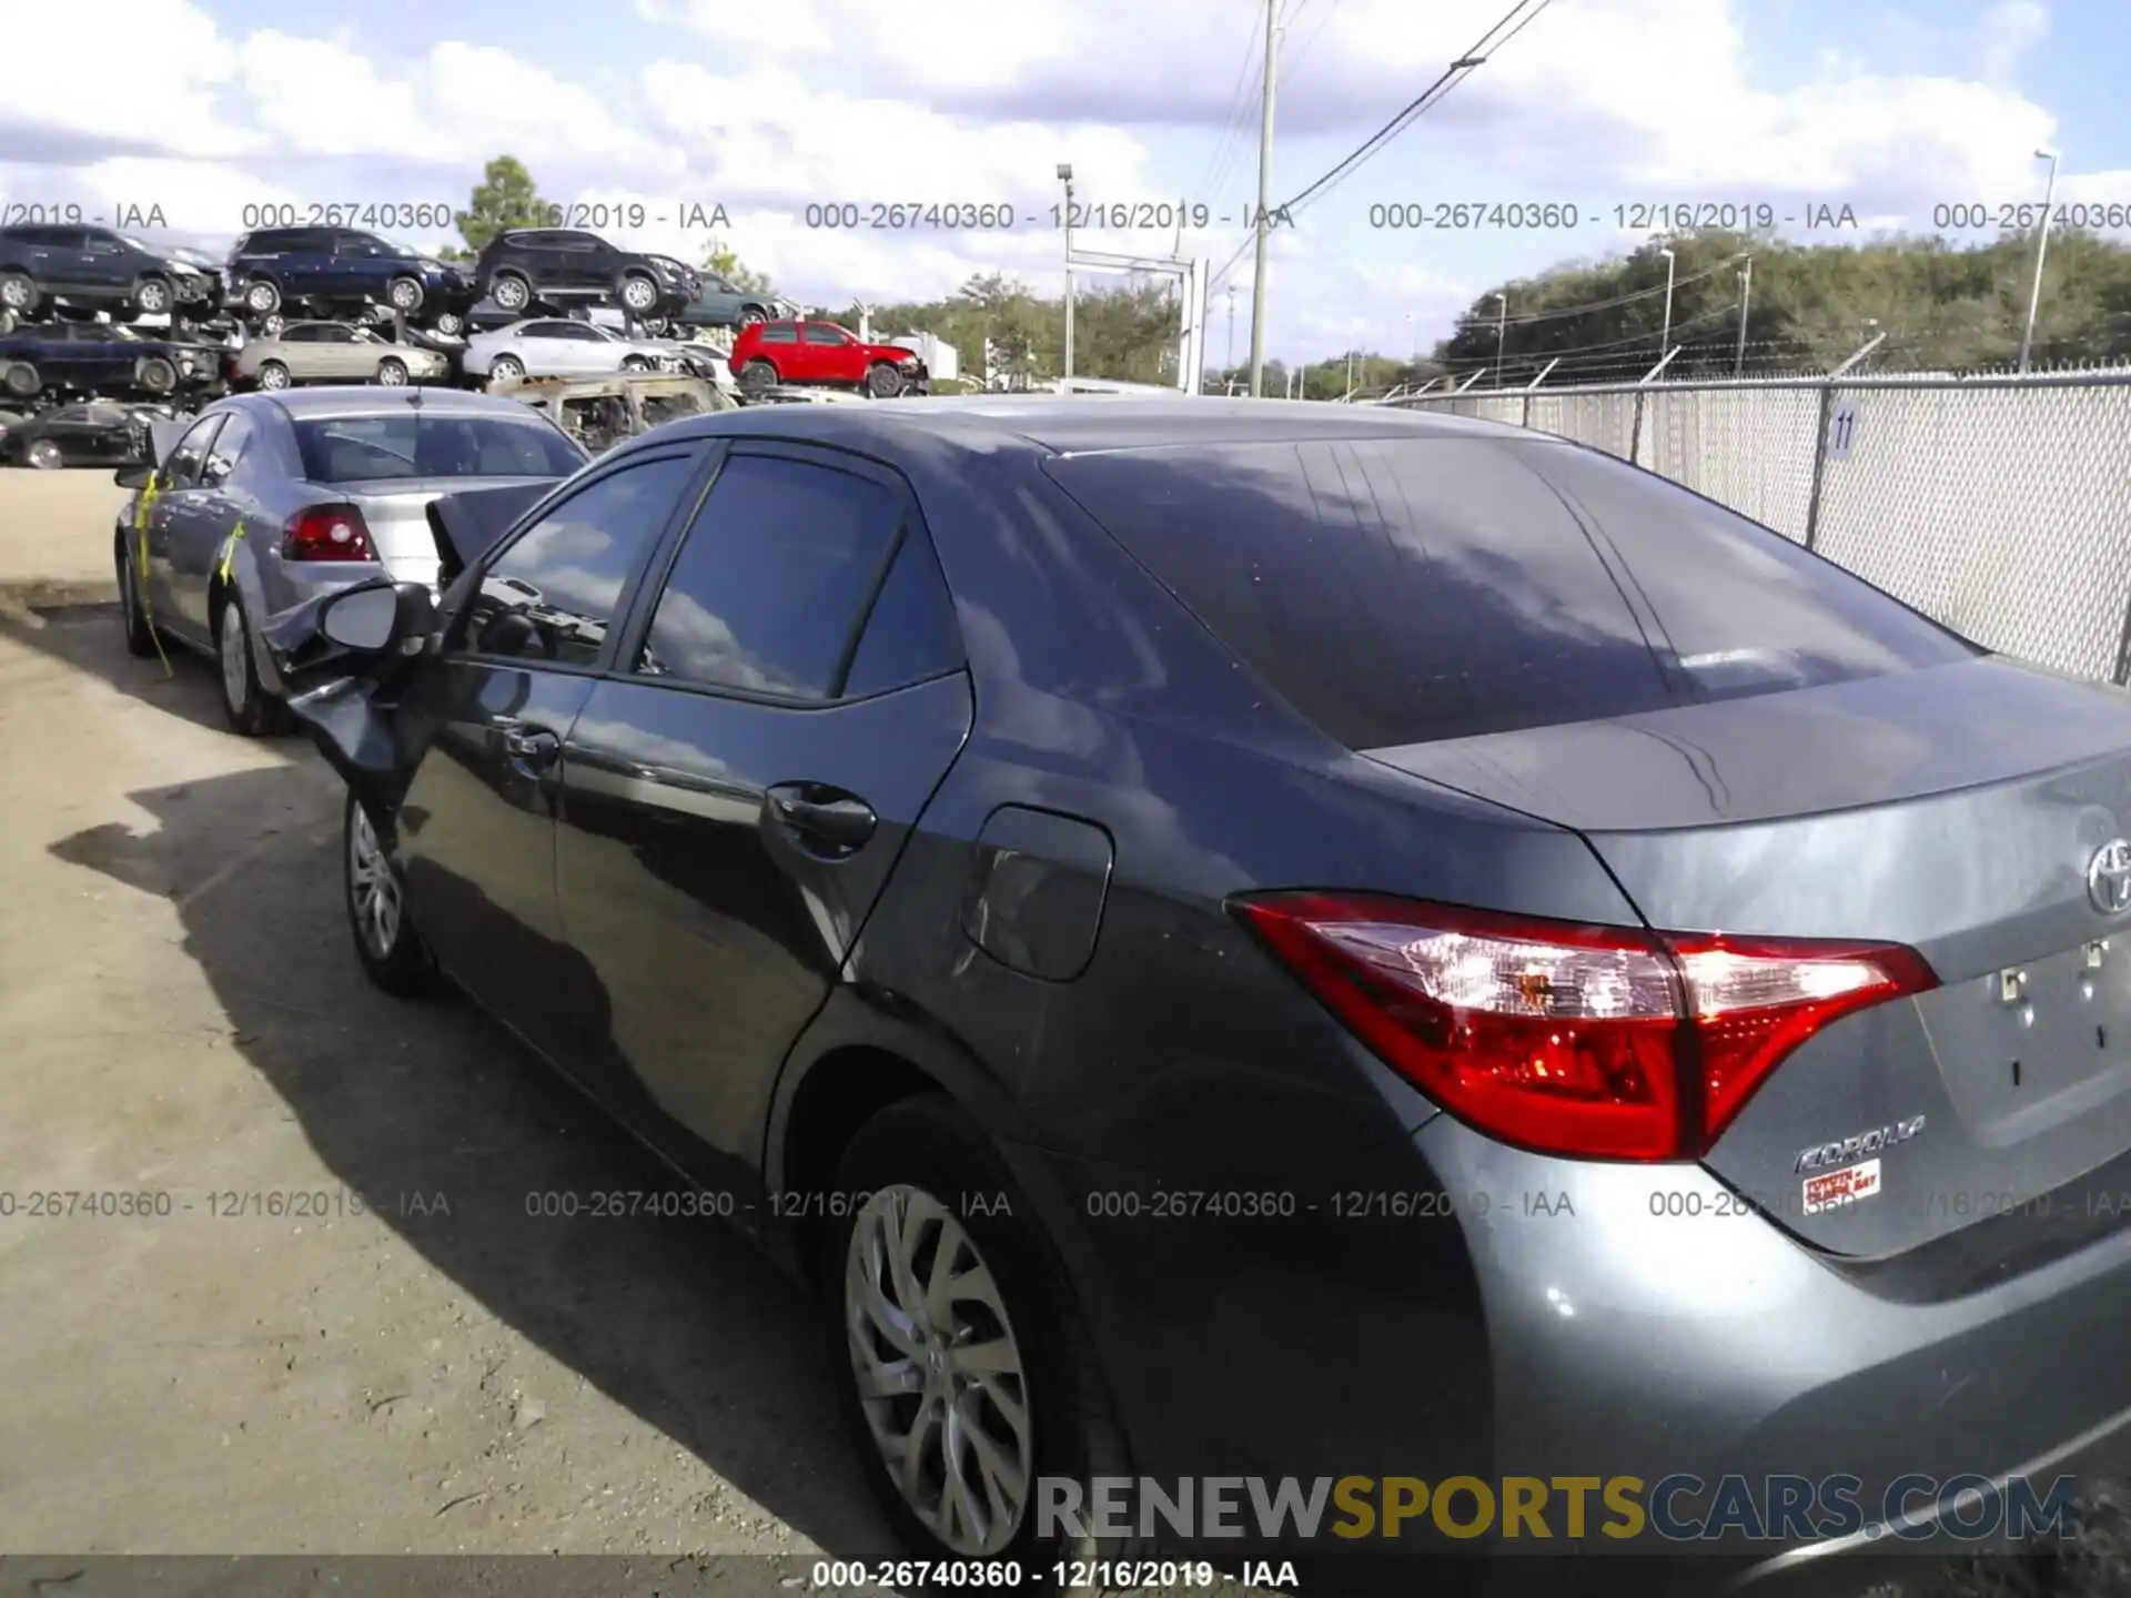
[[[1816,1031],[1937,986],[1899,944],[1581,927],[1357,893],[1274,893],[1236,914],[1445,1110],[1585,1159],[1698,1159]]]

